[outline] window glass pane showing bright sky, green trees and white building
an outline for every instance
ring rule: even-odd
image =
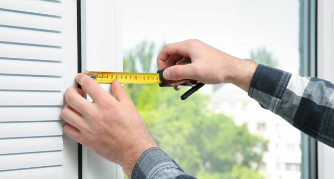
[[[298,74],[299,1],[123,1],[124,72],[157,71],[165,43],[199,39]],[[214,64],[212,64],[214,65]],[[300,131],[231,84],[124,84],[158,145],[198,178],[300,178]]]

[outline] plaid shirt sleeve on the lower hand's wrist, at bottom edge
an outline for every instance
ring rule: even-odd
[[[147,149],[138,159],[131,178],[194,179],[160,148]]]

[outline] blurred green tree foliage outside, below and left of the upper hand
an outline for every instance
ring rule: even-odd
[[[150,53],[142,47],[147,45],[152,47],[148,48]],[[135,50],[145,66],[142,72],[151,69],[147,65],[152,64],[154,47],[143,42]],[[124,66],[124,71],[136,69],[137,57],[126,57],[124,64],[129,66]],[[208,108],[209,96],[196,92],[181,101],[186,89],[174,91],[157,84],[124,87],[158,145],[185,172],[198,178],[264,178],[257,169],[268,141],[249,133],[246,125],[235,125],[229,116],[213,114]]]

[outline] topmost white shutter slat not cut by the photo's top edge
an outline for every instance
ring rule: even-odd
[[[0,10],[0,24],[61,31],[62,19]]]

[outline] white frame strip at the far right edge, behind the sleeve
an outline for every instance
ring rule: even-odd
[[[334,83],[334,2],[318,1],[317,75]],[[318,178],[334,178],[334,149],[318,142]]]

